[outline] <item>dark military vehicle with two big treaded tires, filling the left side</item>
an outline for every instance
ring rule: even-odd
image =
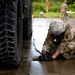
[[[0,66],[17,66],[23,40],[32,36],[31,0],[0,0]]]

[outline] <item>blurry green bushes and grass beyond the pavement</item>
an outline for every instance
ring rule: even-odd
[[[63,0],[48,0],[50,6],[48,12],[46,12],[46,0],[33,0],[33,15],[35,17],[48,17],[48,18],[59,18],[60,17],[60,5]],[[75,12],[75,1],[67,0],[68,11]],[[40,14],[43,12],[42,14]],[[69,17],[75,18],[75,14],[68,14]]]

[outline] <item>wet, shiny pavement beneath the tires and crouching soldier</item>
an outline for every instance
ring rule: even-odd
[[[0,75],[75,75],[75,59],[59,59],[53,62],[33,61],[32,58],[39,56],[33,46],[35,39],[36,48],[41,51],[47,35],[49,24],[48,18],[34,18],[32,21],[32,39],[23,42],[22,60],[17,68],[0,69]],[[68,19],[67,23],[75,23],[75,19]]]

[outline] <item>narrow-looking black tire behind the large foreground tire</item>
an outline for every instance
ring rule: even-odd
[[[31,39],[32,36],[32,1],[24,2],[23,40]]]

